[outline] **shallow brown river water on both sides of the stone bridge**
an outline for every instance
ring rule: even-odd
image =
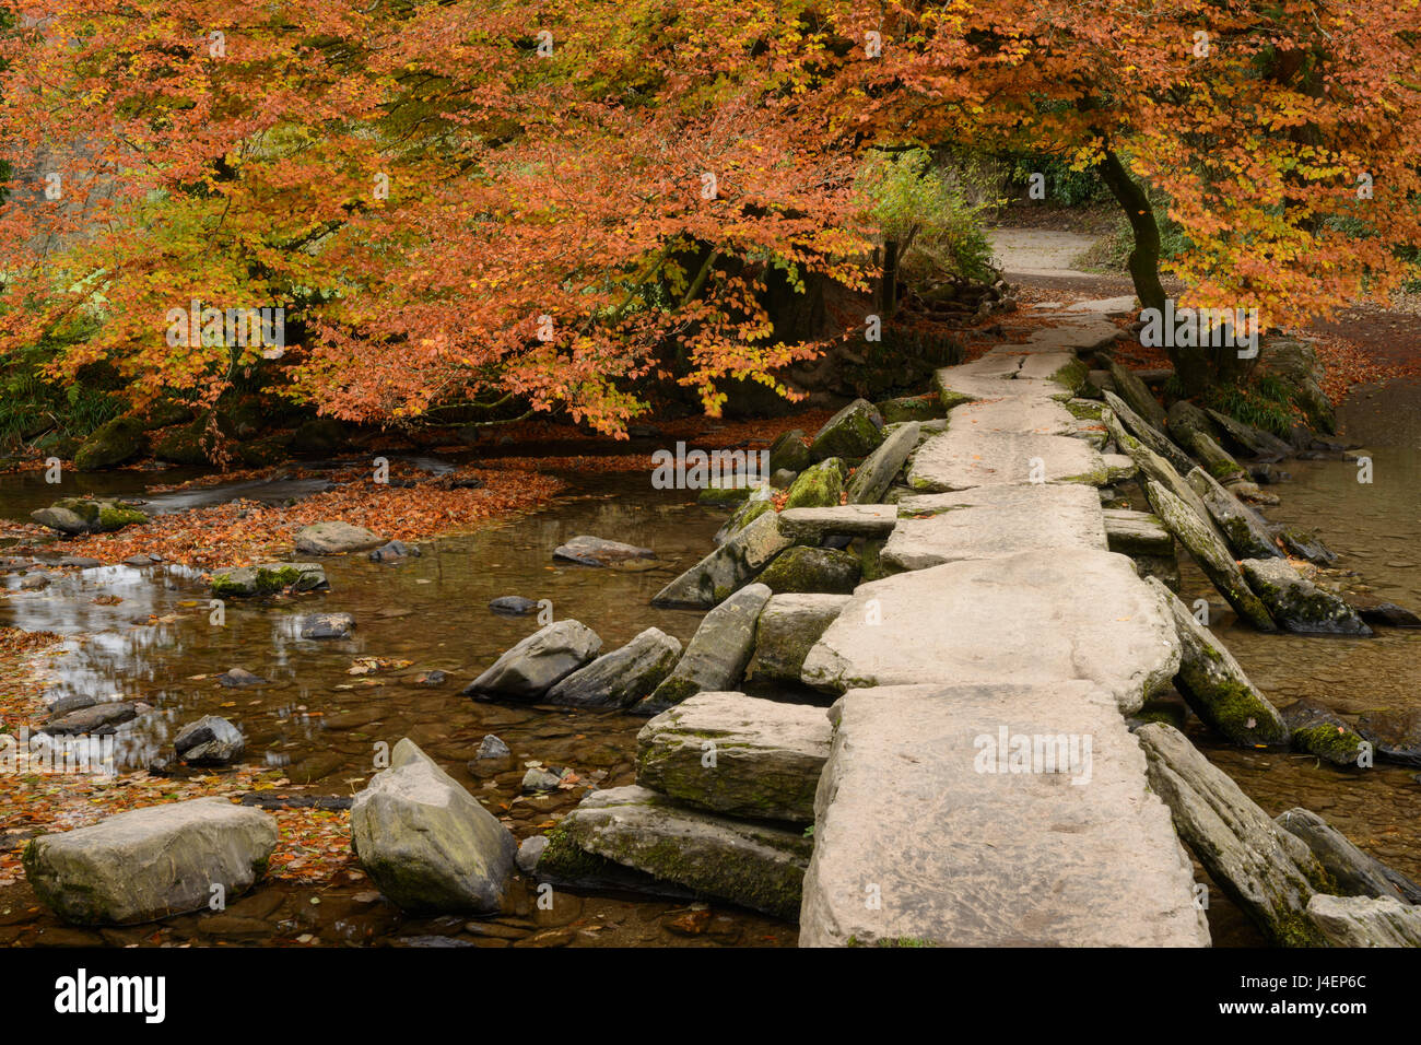
[[[1373,452],[1374,482],[1358,483],[1356,466],[1347,462],[1286,462],[1292,481],[1272,488],[1283,503],[1269,516],[1316,529],[1341,556],[1339,567],[1358,572],[1383,599],[1421,609],[1421,387],[1393,385],[1376,398],[1357,395],[1343,417],[1346,438]],[[84,479],[85,489],[98,493],[134,495],[145,482],[180,478],[186,473]],[[459,697],[465,682],[539,627],[534,617],[492,614],[489,600],[506,594],[547,599],[554,617],[591,626],[604,650],[651,626],[685,641],[701,614],[654,610],[648,603],[669,577],[710,547],[723,520],[722,513],[698,508],[682,493],[651,489],[641,473],[570,479],[570,493],[549,509],[476,535],[423,542],[422,557],[398,566],[364,556],[328,559],[328,593],[264,604],[229,601],[220,627],[209,620],[207,591],[196,576],[162,566],[70,572],[43,591],[11,590],[0,601],[0,624],[85,637],[57,661],[51,697],[121,694],[153,705],[125,741],[122,758],[129,766],[146,765],[186,722],[220,714],[246,734],[249,762],[281,769],[293,783],[311,783],[311,793],[348,796],[368,781],[377,744],[394,745],[409,736],[510,818],[522,839],[584,793],[578,788],[514,800],[526,762],[571,766],[598,786],[630,783],[635,735],[644,719],[476,704]],[[3,516],[23,519],[55,496],[55,488],[43,486],[34,473],[0,478]],[[648,569],[554,563],[553,549],[578,533],[645,545],[659,560]],[[1222,613],[1222,601],[1192,563],[1184,564],[1184,579],[1187,601],[1208,596]],[[4,583],[13,589],[17,580]],[[98,596],[122,601],[98,604],[92,601]],[[354,637],[334,643],[298,638],[297,616],[317,609],[354,614]],[[158,623],[151,623],[153,618]],[[1353,712],[1421,700],[1421,630],[1378,628],[1377,637],[1367,640],[1260,636],[1235,626],[1229,614],[1215,630],[1279,705],[1312,697]],[[352,675],[357,657],[409,665]],[[223,688],[216,675],[230,667],[253,671],[271,685]],[[448,672],[442,685],[415,681],[433,670]],[[1381,763],[1341,771],[1310,756],[1219,745],[1192,719],[1188,729],[1269,813],[1307,806],[1373,854],[1421,879],[1421,785],[1414,769]],[[513,756],[470,771],[466,762],[490,732],[509,744]],[[891,802],[892,795],[884,800]],[[318,889],[269,883],[236,901],[226,920],[171,918],[156,934],[151,926],[102,933],[67,928],[43,911],[28,911],[33,900],[27,893],[24,884],[0,890],[0,943],[304,938],[358,944],[414,938],[495,947],[787,945],[796,938],[793,926],[726,906],[564,890],[551,911],[537,910],[531,897],[516,889],[509,910],[492,921],[408,918],[382,900],[371,900],[368,881],[345,876]],[[314,904],[317,893],[320,903]],[[1211,897],[1209,920],[1219,945],[1262,943],[1218,890]]]

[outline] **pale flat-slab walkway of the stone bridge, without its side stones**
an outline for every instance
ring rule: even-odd
[[[1124,714],[1179,665],[1172,620],[1106,550],[1110,461],[1061,401],[1088,310],[938,374],[885,557],[803,677],[844,695],[800,943],[1208,945],[1191,864]]]

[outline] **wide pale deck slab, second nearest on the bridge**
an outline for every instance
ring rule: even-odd
[[[860,584],[801,678],[830,692],[1086,678],[1133,714],[1178,670],[1174,621],[1130,560],[1057,547]]]

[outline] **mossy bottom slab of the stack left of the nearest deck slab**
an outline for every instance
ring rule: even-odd
[[[651,883],[764,911],[799,916],[813,842],[782,829],[679,806],[639,786],[594,791],[549,832],[537,873],[554,880],[607,880],[603,864]]]

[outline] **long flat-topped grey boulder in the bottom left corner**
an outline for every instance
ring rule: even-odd
[[[118,813],[44,835],[24,850],[36,896],[65,921],[132,926],[202,910],[257,881],[276,849],[276,820],[222,798]]]

